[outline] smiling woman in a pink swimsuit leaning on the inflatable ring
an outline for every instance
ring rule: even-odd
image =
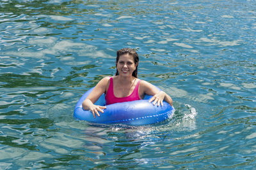
[[[116,74],[113,77],[105,77],[97,83],[92,92],[83,101],[83,109],[90,110],[99,117],[104,113],[106,106],[98,106],[94,103],[104,93],[106,104],[136,101],[143,99],[145,94],[153,96],[149,102],[157,106],[163,106],[163,100],[172,106],[172,98],[163,91],[159,91],[154,85],[137,78],[139,56],[131,48],[123,48],[116,52]]]

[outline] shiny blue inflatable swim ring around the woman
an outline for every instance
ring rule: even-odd
[[[82,107],[84,99],[92,92],[93,88],[88,90],[77,102],[74,118],[99,124],[147,125],[162,122],[172,117],[175,111],[165,101],[163,101],[163,106],[149,103],[148,100],[152,96],[148,95],[145,95],[143,100],[115,103],[106,106],[105,96],[102,94],[95,104],[106,106],[107,108],[104,110],[104,113],[100,113],[100,117],[96,115],[96,118],[94,118],[91,111],[83,110]]]

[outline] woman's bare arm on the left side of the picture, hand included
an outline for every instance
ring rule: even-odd
[[[106,91],[108,86],[109,77],[102,78],[102,80],[97,83],[92,92],[86,97],[83,101],[83,109],[92,111],[93,117],[95,114],[99,117],[99,111],[104,113],[103,109],[106,109],[106,106],[98,106],[94,103],[99,99],[99,97]]]

